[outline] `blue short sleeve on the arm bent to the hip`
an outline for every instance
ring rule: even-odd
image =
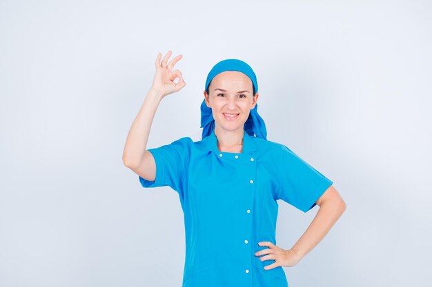
[[[279,189],[277,199],[284,200],[307,212],[316,205],[316,201],[333,184],[310,164],[302,160],[291,149],[282,145],[278,169]]]

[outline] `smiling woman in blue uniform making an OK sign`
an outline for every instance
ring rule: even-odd
[[[183,287],[288,286],[282,266],[295,266],[346,209],[333,182],[291,149],[266,140],[257,113],[252,68],[226,59],[208,73],[201,105],[202,140],[188,137],[146,150],[157,106],[186,83],[171,51],[156,58],[153,85],[132,123],[123,161],[142,187],[170,186],[184,212]],[[178,78],[178,83],[175,83]],[[256,136],[255,136],[256,135]],[[290,249],[276,245],[277,202],[320,209]]]

